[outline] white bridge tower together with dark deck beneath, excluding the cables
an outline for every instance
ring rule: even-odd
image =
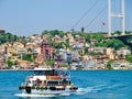
[[[130,46],[132,48],[132,43],[128,40],[132,37],[132,33],[125,34],[125,2],[124,0],[121,0],[121,12],[120,13],[112,13],[111,9],[111,0],[108,0],[108,36],[107,38],[118,38],[122,41],[125,45]],[[112,18],[119,18],[121,19],[121,34],[120,35],[111,35],[111,19]]]

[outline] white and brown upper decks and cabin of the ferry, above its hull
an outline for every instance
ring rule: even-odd
[[[70,74],[68,70],[56,69],[34,69],[34,74],[26,79],[29,86],[37,85],[70,85]]]

